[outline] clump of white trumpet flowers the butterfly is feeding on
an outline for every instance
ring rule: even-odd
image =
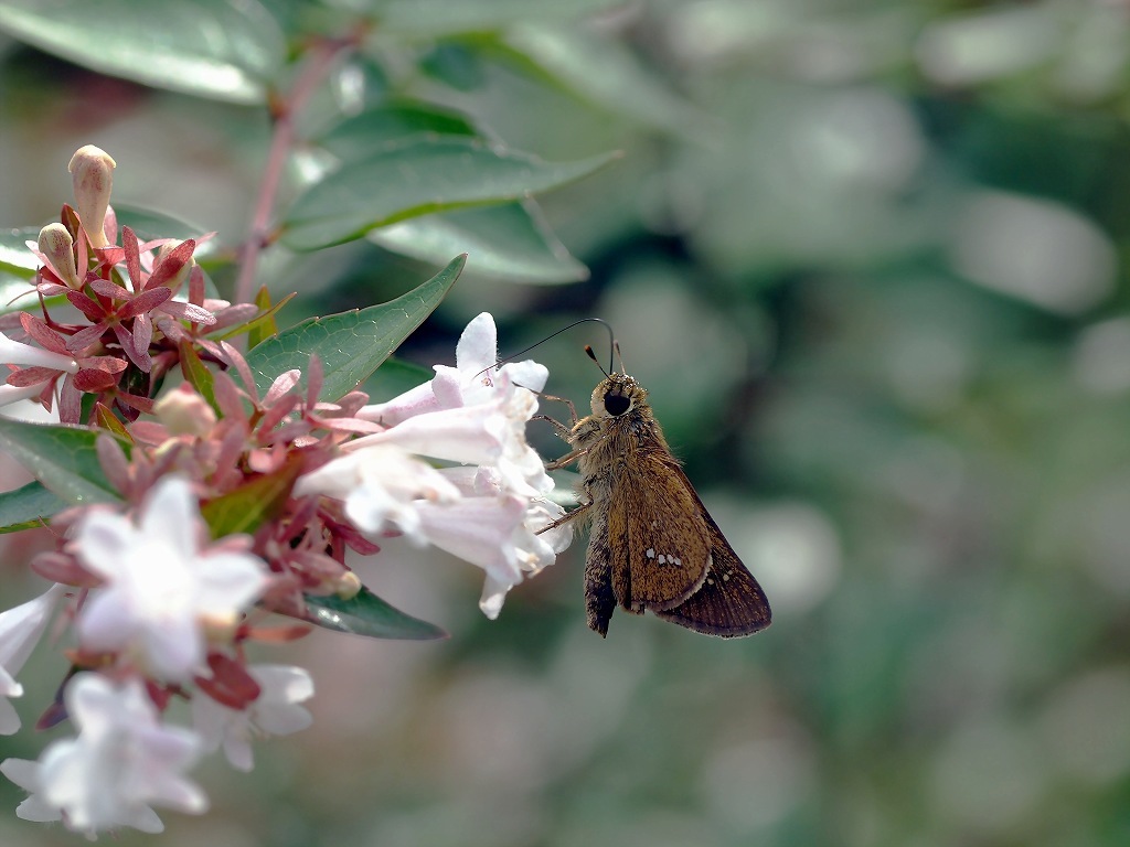
[[[358,417],[388,429],[350,442],[345,454],[298,480],[299,495],[342,500],[363,533],[395,529],[479,566],[486,584],[479,606],[498,615],[506,592],[568,547],[572,529],[537,534],[564,515],[546,500],[553,479],[525,442],[548,378],[534,361],[497,361],[494,318],[468,324],[455,367],[436,365],[435,377]],[[428,462],[463,466],[435,469]]]

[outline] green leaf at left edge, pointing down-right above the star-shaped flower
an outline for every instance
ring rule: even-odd
[[[0,449],[71,505],[121,500],[98,463],[94,445],[99,435],[82,427],[0,418]]]

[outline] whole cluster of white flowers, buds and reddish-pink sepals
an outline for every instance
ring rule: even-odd
[[[40,475],[71,503],[42,516],[56,544],[31,567],[51,585],[0,612],[0,733],[19,730],[16,678],[55,621],[71,671],[38,726],[69,722],[75,734],[0,772],[28,793],[21,818],[92,835],[160,831],[155,806],[205,811],[185,776],[199,757],[223,749],[249,770],[253,737],[310,723],[310,674],[254,664],[247,648],[371,595],[347,556],[394,534],[445,550],[484,569],[480,606],[495,618],[571,540],[525,442],[548,373],[496,367],[489,314],[467,326],[454,367],[389,402],[356,390],[321,400],[316,355],[260,392],[228,339],[262,326],[269,307],[206,296],[193,257],[203,238],[119,227],[113,168],[97,148],[75,155],[76,206],[29,242],[37,306],[0,317],[0,404],[38,402],[60,438],[96,434],[70,444],[98,469],[95,480]],[[101,501],[68,487],[79,477]],[[174,699],[190,701],[191,726],[169,722]]]

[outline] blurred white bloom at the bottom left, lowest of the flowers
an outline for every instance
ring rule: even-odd
[[[195,733],[162,726],[141,682],[115,686],[80,673],[67,686],[67,711],[79,734],[52,743],[38,762],[8,759],[3,774],[32,796],[16,810],[94,833],[116,827],[160,832],[153,805],[200,813],[208,800],[181,772],[198,758]]]

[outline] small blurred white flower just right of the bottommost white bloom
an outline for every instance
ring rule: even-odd
[[[289,735],[305,730],[313,718],[298,704],[314,696],[314,681],[302,667],[251,665],[247,673],[260,693],[246,709],[231,709],[198,692],[192,698],[192,723],[209,752],[224,748],[233,768],[251,770],[252,735]]]

